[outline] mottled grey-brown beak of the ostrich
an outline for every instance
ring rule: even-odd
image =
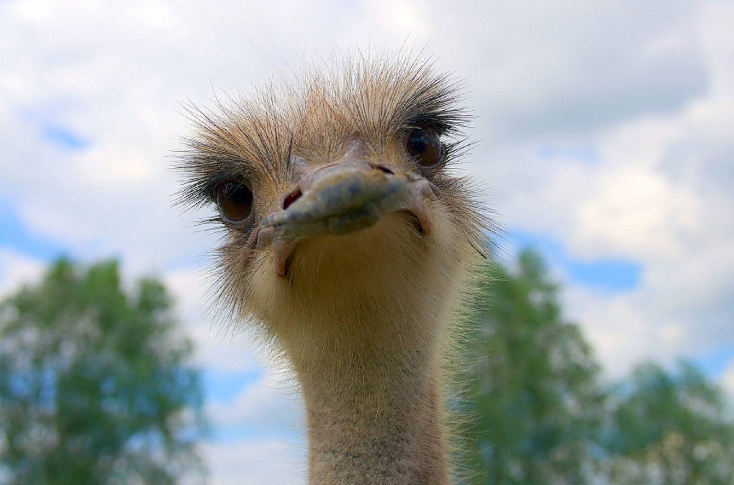
[[[283,210],[263,219],[256,247],[274,245],[278,275],[285,276],[288,257],[299,242],[324,234],[353,233],[390,212],[413,214],[424,235],[430,233],[425,200],[437,197],[437,189],[428,180],[396,167],[345,158],[309,169],[280,197]]]

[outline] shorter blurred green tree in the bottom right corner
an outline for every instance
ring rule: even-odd
[[[622,384],[608,436],[612,484],[734,483],[734,422],[716,385],[688,362],[647,363]]]

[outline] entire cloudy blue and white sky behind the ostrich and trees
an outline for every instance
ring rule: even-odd
[[[734,2],[0,0],[0,295],[48,261],[154,274],[197,343],[214,485],[304,484],[302,407],[206,312],[217,235],[172,205],[181,103],[304,59],[424,48],[466,85],[462,164],[563,284],[606,376],[697,362],[734,395]]]

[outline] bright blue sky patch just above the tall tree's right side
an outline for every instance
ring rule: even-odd
[[[625,258],[581,260],[570,258],[563,244],[556,239],[523,230],[509,230],[506,247],[514,258],[526,247],[535,248],[552,268],[559,269],[570,282],[585,285],[603,293],[631,291],[639,285],[642,264]]]

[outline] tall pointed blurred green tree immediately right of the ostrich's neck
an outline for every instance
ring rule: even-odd
[[[599,366],[534,252],[487,268],[469,382],[475,484],[583,484],[595,464]]]

